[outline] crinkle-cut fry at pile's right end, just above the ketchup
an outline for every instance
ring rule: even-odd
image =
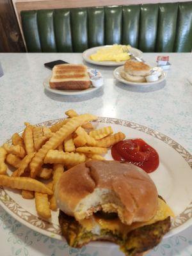
[[[106,138],[103,138],[102,140],[98,140],[97,147],[108,148],[124,139],[125,139],[125,134],[122,132],[117,132],[115,134],[107,136]]]

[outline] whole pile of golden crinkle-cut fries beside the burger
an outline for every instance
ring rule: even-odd
[[[67,118],[51,127],[25,123],[20,136],[12,136],[12,145],[0,147],[0,186],[20,189],[23,198],[35,198],[36,211],[45,220],[56,211],[54,189],[62,173],[90,159],[103,160],[108,148],[125,138],[113,134],[113,129],[94,129],[97,116],[78,115],[73,109],[65,112]],[[8,175],[8,165],[13,167]]]

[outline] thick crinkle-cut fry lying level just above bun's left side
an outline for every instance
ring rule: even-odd
[[[60,163],[65,166],[74,166],[79,163],[84,163],[86,156],[84,154],[78,154],[74,152],[62,152],[59,150],[49,150],[44,158],[44,163]]]

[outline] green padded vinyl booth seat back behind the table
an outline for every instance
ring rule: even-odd
[[[192,2],[21,12],[28,52],[83,52],[130,44],[143,52],[191,52]]]

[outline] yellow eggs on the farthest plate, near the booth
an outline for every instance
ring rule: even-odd
[[[91,60],[94,61],[125,61],[129,60],[130,57],[127,52],[123,51],[124,45],[113,45],[111,47],[104,47],[97,51],[97,53],[90,56]],[[130,47],[127,45],[127,47]]]

